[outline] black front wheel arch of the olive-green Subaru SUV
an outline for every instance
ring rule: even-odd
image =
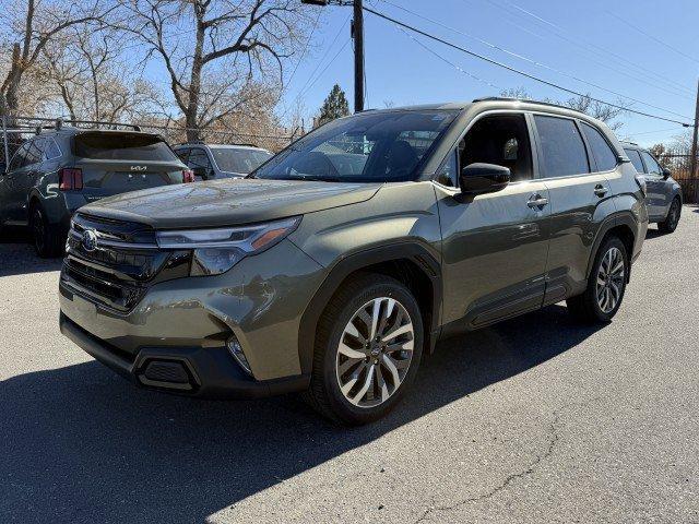
[[[318,321],[329,300],[348,278],[366,272],[391,276],[413,293],[423,314],[425,350],[434,350],[441,322],[442,282],[439,262],[425,246],[417,242],[379,246],[355,252],[335,263],[306,306],[298,335],[303,373],[312,369]]]

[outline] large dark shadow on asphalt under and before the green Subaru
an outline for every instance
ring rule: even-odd
[[[135,389],[95,361],[13,377],[0,383],[0,520],[202,522],[555,358],[596,329],[553,306],[442,343],[393,414],[355,429],[330,425],[295,396],[193,401]]]

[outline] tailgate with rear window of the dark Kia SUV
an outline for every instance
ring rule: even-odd
[[[182,182],[185,166],[157,135],[86,131],[73,138],[83,195],[94,201],[112,194]]]

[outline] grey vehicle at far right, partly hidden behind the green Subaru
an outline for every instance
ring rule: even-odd
[[[670,169],[662,167],[648,150],[633,142],[623,142],[623,145],[633,167],[645,180],[650,222],[657,223],[663,233],[673,233],[682,214],[682,187],[673,179]]]

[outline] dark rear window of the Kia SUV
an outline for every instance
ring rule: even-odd
[[[82,133],[75,135],[75,155],[95,160],[175,162],[163,139],[137,133]]]

